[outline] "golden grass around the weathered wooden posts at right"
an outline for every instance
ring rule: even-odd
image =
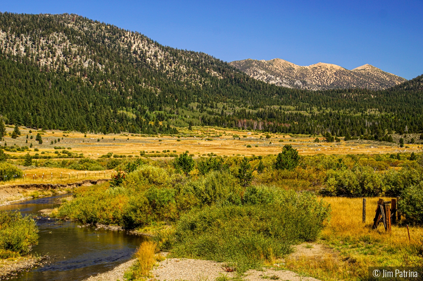
[[[369,266],[401,266],[407,264],[407,259],[421,262],[417,254],[423,249],[422,227],[409,226],[411,240],[405,225],[393,225],[391,233],[385,232],[383,224],[372,229],[378,199],[366,198],[367,216],[363,224],[362,198],[325,197],[332,206],[332,216],[320,242],[330,251],[322,259],[288,259],[288,269],[321,280],[360,280],[366,278]]]

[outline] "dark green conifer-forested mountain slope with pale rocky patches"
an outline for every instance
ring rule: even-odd
[[[188,124],[334,135],[423,131],[417,88],[275,86],[207,54],[77,15],[3,13],[0,30],[0,114],[8,124],[148,134]]]

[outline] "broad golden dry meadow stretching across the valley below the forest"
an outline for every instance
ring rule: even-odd
[[[8,131],[12,129],[8,128]],[[177,138],[169,136],[156,136],[156,137],[141,137],[140,135],[132,136],[129,133],[122,134],[84,134],[78,132],[71,132],[64,134],[61,131],[52,131],[49,130],[42,135],[43,144],[39,145],[35,141],[35,136],[37,132],[32,131],[32,134],[29,133],[29,130],[25,127],[20,128],[22,135],[19,138],[12,139],[10,136],[5,136],[5,141],[8,145],[16,143],[18,146],[29,146],[30,143],[33,143],[33,148],[30,151],[31,155],[38,153],[40,155],[55,155],[53,148],[54,146],[64,146],[66,149],[71,147],[71,152],[77,152],[78,154],[83,153],[85,157],[97,158],[108,152],[113,152],[115,154],[125,154],[126,156],[139,156],[140,151],[159,151],[162,152],[164,149],[176,150],[177,153],[182,153],[184,151],[190,151],[190,154],[195,154],[195,157],[199,155],[215,153],[217,155],[245,155],[250,156],[255,155],[266,155],[266,154],[277,154],[280,152],[282,146],[285,144],[292,144],[295,148],[298,149],[299,154],[301,155],[313,155],[313,154],[372,154],[372,153],[397,153],[404,151],[417,151],[418,145],[407,145],[409,148],[399,148],[398,146],[387,146],[385,143],[380,142],[371,142],[364,141],[363,143],[346,143],[342,141],[341,143],[314,143],[315,138],[291,138],[289,135],[284,134],[271,134],[272,138],[266,139],[265,134],[257,133],[254,135],[254,132],[249,131],[234,131],[234,130],[224,130],[222,128],[201,128],[196,127],[193,131],[184,130],[179,128],[180,132],[185,132],[189,134],[205,134],[210,133],[210,137],[205,138]],[[54,133],[53,133],[54,132]],[[26,135],[33,135],[33,139],[28,139],[28,143],[25,143]],[[222,134],[219,138],[213,138],[214,135]],[[233,139],[233,134],[239,135],[241,139]],[[246,136],[245,138],[243,136]],[[260,139],[260,136],[263,138]],[[63,137],[63,140],[61,139]],[[60,142],[50,145],[51,140],[57,140],[60,138]],[[103,139],[102,139],[103,138]],[[115,138],[115,140],[113,140]],[[128,139],[129,138],[129,139]],[[213,140],[206,140],[206,138],[213,138]],[[100,139],[98,142],[97,139]],[[321,141],[323,138],[319,138]],[[159,141],[161,140],[161,141]],[[177,141],[180,140],[180,141]],[[284,140],[279,142],[279,140]],[[293,140],[293,141],[288,141]],[[272,144],[269,144],[271,142]],[[247,148],[246,146],[250,144],[252,147]],[[255,147],[258,145],[258,147]],[[34,151],[35,148],[38,148],[39,151]],[[41,154],[44,151],[45,154]],[[61,151],[61,150],[59,150]],[[12,155],[22,156],[26,154],[25,152],[6,152]],[[59,159],[61,160],[61,159]]]

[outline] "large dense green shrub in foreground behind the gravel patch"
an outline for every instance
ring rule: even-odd
[[[226,262],[238,272],[259,268],[315,240],[330,207],[309,194],[284,192],[274,203],[212,205],[194,209],[177,222],[173,255]]]

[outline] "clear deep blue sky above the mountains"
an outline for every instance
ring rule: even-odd
[[[19,1],[0,11],[74,13],[225,61],[365,63],[407,79],[423,74],[420,1]]]

